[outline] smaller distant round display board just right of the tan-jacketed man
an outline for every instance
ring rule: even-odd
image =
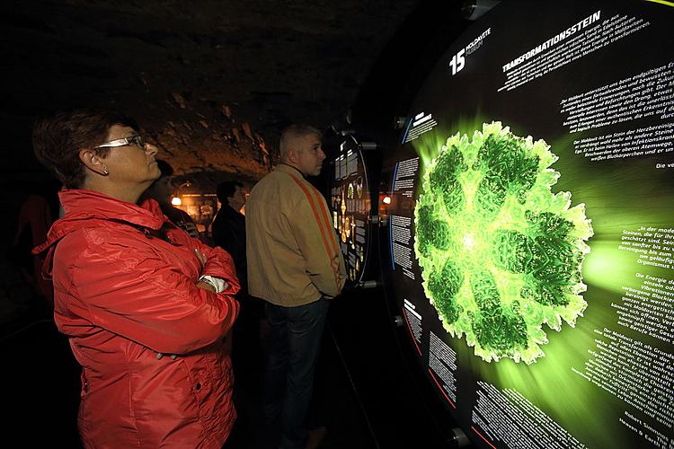
[[[340,238],[347,280],[355,285],[362,280],[368,263],[371,200],[365,159],[353,136],[341,141],[340,155],[331,166],[333,226]]]

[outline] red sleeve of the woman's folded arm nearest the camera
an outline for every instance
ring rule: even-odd
[[[55,260],[55,278],[58,267],[65,267],[61,278],[70,279],[71,312],[93,325],[157,352],[185,354],[222,338],[234,324],[239,305],[231,287],[221,294],[202,289],[146,245],[87,239],[83,251],[67,240],[58,245],[62,262]],[[207,265],[215,276],[234,283],[219,267],[226,257],[211,259]]]

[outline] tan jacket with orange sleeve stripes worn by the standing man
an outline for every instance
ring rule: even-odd
[[[258,182],[245,205],[248,289],[272,304],[339,295],[346,270],[325,198],[286,164]]]

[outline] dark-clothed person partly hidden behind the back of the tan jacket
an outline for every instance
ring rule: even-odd
[[[222,207],[213,220],[213,242],[227,251],[234,259],[236,276],[242,286],[246,284],[245,264],[245,216],[241,209],[245,205],[244,184],[235,180],[222,182],[217,186],[217,200]],[[242,289],[245,293],[247,288]]]

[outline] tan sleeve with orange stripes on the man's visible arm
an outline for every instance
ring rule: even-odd
[[[344,259],[330,222],[325,199],[316,191],[299,201],[288,222],[306,262],[306,274],[325,296],[341,293],[346,279]]]

